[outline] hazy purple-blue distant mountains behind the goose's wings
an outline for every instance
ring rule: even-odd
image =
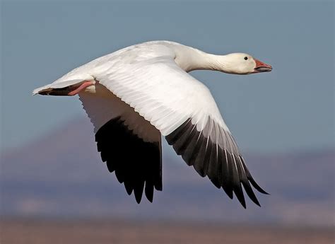
[[[114,216],[334,226],[334,149],[246,155],[262,207],[243,209],[165,144],[163,192],[136,204],[100,161],[93,127],[78,118],[1,155],[1,215]]]

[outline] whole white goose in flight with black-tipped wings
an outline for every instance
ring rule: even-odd
[[[196,69],[254,74],[272,67],[249,54],[214,55],[176,42],[144,42],[84,64],[33,94],[79,95],[102,161],[138,203],[143,190],[152,202],[154,188],[163,188],[163,135],[187,165],[231,199],[235,192],[246,207],[243,186],[259,205],[251,185],[267,193],[249,173],[211,92],[188,74]]]

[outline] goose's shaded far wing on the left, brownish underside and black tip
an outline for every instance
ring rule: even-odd
[[[154,188],[162,190],[160,132],[113,93],[103,94],[80,93],[102,161],[129,195],[134,191],[136,202],[141,202],[143,190],[153,202]]]

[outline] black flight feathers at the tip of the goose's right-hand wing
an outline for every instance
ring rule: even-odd
[[[192,118],[189,118],[165,138],[187,165],[193,165],[202,177],[207,175],[211,182],[218,188],[222,187],[231,199],[235,192],[242,206],[246,207],[243,185],[252,202],[260,206],[251,185],[259,192],[267,193],[257,185],[249,173],[233,136],[210,117],[202,131],[198,131],[196,124],[192,123]]]

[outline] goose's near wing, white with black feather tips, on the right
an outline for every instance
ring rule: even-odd
[[[250,175],[210,91],[177,66],[173,55],[120,60],[100,70],[93,70],[95,79],[159,129],[199,175],[207,175],[230,198],[235,192],[245,207],[243,185],[259,205],[251,185],[266,192]]]

